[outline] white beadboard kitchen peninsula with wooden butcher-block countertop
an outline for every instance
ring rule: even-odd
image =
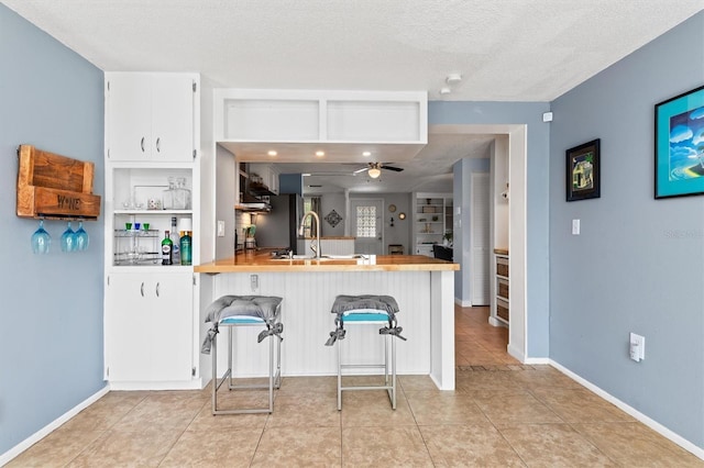
[[[324,342],[334,328],[330,308],[338,294],[389,294],[399,304],[399,325],[408,338],[397,343],[398,374],[429,375],[439,389],[454,389],[457,264],[421,255],[377,256],[373,260],[275,259],[268,250],[245,250],[194,269],[216,275],[215,298],[226,294],[284,298],[284,376],[337,372],[337,350],[326,347]],[[251,332],[256,342],[257,330],[242,332]],[[374,334],[361,333],[345,345],[350,346],[350,356],[371,360],[378,356],[381,343]],[[223,349],[219,355],[224,359],[227,353]],[[249,353],[234,365],[240,376],[264,375],[266,352]]]

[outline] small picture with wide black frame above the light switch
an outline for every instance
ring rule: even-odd
[[[566,156],[566,200],[600,198],[601,193],[601,140],[575,146],[565,152]]]

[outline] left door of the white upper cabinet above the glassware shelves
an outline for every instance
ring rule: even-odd
[[[108,76],[107,135],[111,160],[148,160],[152,80],[148,74]]]

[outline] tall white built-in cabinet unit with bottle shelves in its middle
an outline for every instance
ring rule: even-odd
[[[194,265],[208,235],[199,85],[197,74],[106,74],[105,378],[117,390],[200,388],[193,266],[164,266],[161,253],[172,218],[194,226]],[[164,209],[169,179],[184,181],[190,203]]]

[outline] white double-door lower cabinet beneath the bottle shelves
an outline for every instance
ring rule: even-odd
[[[111,382],[191,379],[191,272],[109,274],[106,378]]]

